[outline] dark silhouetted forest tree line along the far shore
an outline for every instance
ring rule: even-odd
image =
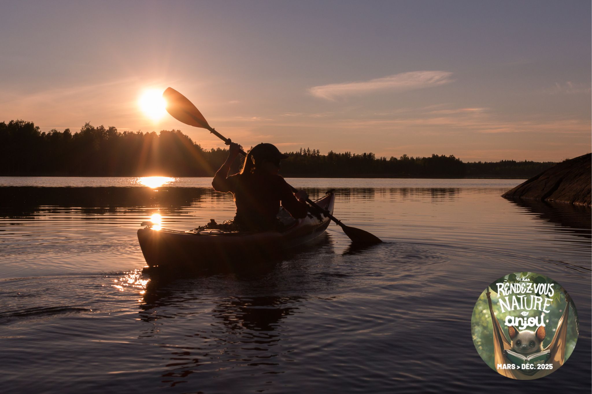
[[[318,149],[287,152],[287,177],[529,178],[554,162],[462,162],[454,155],[376,157],[352,152],[326,155]],[[119,132],[85,123],[81,130],[41,132],[33,122],[0,122],[0,175],[210,177],[224,162],[226,149],[203,149],[179,130]],[[231,171],[238,171],[239,159]]]

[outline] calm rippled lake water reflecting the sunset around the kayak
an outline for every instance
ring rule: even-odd
[[[590,210],[500,197],[519,180],[292,179],[381,237],[337,226],[253,272],[142,273],[153,213],[186,230],[233,216],[206,178],[0,178],[2,392],[590,392]],[[155,186],[155,185],[153,185]],[[514,381],[474,348],[478,295],[550,276],[578,308],[570,359]]]

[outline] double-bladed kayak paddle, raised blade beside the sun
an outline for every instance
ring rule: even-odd
[[[179,122],[185,123],[186,125],[209,130],[215,136],[224,141],[226,145],[230,144],[230,139],[225,138],[223,135],[215,131],[214,128],[208,124],[208,121],[205,120],[204,115],[201,115],[200,110],[197,109],[195,105],[193,105],[193,103],[187,99],[187,97],[177,92],[172,87],[168,87],[162,96],[166,100],[166,110],[168,113],[170,113],[170,115],[172,115],[173,118],[177,119]],[[244,156],[247,155],[243,150],[241,150],[240,153]],[[292,188],[292,191],[297,191],[294,187],[290,187]],[[347,235],[356,245],[371,245],[373,243],[382,242],[377,236],[372,235],[367,231],[346,226],[341,222],[341,220],[330,214],[329,211],[324,210],[317,204],[313,203],[310,198],[307,198],[306,202],[314,207],[314,209],[329,217],[329,219],[333,220],[333,222],[339,224],[345,235]]]

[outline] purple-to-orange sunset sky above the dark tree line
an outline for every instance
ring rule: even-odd
[[[590,1],[7,2],[0,121],[181,129],[171,86],[249,147],[463,161],[590,152]]]

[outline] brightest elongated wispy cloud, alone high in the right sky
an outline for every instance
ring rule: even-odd
[[[371,79],[369,81],[332,83],[322,86],[314,86],[308,91],[316,97],[334,100],[336,97],[359,95],[364,93],[391,90],[403,92],[404,90],[425,89],[426,87],[440,86],[451,83],[452,73],[448,71],[410,71],[408,73],[394,74],[387,77]]]

